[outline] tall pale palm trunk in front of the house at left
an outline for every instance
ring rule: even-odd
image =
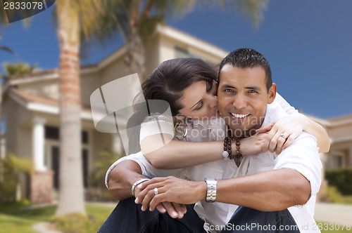
[[[80,119],[80,37],[70,1],[57,2],[60,43],[60,171],[56,215],[84,213]]]

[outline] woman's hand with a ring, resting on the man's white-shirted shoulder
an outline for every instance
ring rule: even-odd
[[[282,149],[287,148],[302,133],[306,126],[306,116],[302,114],[291,114],[271,124],[259,128],[258,133],[267,132],[267,138],[263,143],[263,152],[268,149],[270,152],[280,154]]]

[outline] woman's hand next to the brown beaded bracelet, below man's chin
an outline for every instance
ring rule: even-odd
[[[263,150],[265,140],[267,140],[268,133],[257,133],[249,138],[242,138],[239,140],[241,147],[241,154],[258,154],[268,149]],[[236,143],[232,142],[232,152],[236,151]]]

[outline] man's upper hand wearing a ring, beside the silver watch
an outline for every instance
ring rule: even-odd
[[[206,182],[194,182],[169,176],[167,178],[153,178],[138,185],[142,189],[136,197],[136,203],[142,203],[142,211],[153,211],[158,204],[170,201],[180,204],[194,204],[206,199]],[[158,194],[154,189],[158,189]]]

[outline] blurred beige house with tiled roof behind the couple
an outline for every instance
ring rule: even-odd
[[[164,60],[201,58],[218,64],[227,51],[168,26],[159,25],[146,42],[145,74],[150,74]],[[94,65],[82,66],[80,87],[82,100],[82,166],[84,178],[92,172],[94,162],[104,149],[124,153],[118,133],[101,133],[94,128],[90,95],[98,88],[129,75],[123,61],[127,51],[122,46]],[[145,78],[145,77],[142,77]],[[58,69],[11,76],[3,88],[3,116],[6,130],[1,140],[1,155],[11,152],[34,161],[31,185],[23,181],[20,195],[32,201],[51,201],[52,187],[58,189],[59,159],[59,74]],[[313,120],[324,126],[332,141],[328,155],[322,155],[326,168],[352,166],[352,115]],[[87,185],[87,181],[85,181]],[[27,190],[30,190],[29,192]]]

